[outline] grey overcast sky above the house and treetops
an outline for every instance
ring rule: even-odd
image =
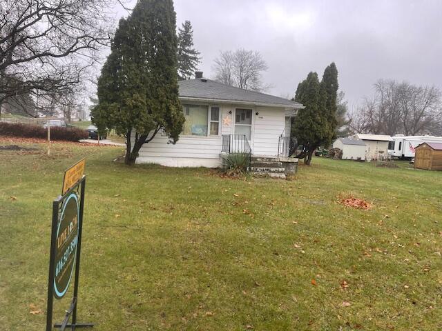
[[[322,77],[332,61],[349,108],[372,94],[379,78],[442,88],[442,0],[174,3],[177,26],[186,19],[192,23],[204,77],[213,77],[220,50],[245,48],[258,50],[267,61],[263,81],[277,96],[293,96],[308,72]]]

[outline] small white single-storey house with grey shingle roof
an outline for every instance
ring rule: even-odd
[[[216,168],[222,153],[248,149],[254,156],[287,157],[289,119],[300,103],[211,81],[202,72],[195,77],[178,82],[186,119],[179,141],[173,145],[158,133],[137,163]]]

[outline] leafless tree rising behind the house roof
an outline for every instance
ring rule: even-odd
[[[215,59],[213,65],[215,80],[254,91],[269,88],[262,83],[261,77],[262,72],[268,68],[260,52],[244,49],[220,52],[220,57]]]

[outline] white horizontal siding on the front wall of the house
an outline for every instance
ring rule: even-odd
[[[200,103],[201,104],[201,103]],[[158,133],[146,143],[139,153],[137,163],[159,163],[173,167],[208,167],[217,168],[221,165],[222,134],[234,134],[234,114],[236,108],[251,108],[252,134],[251,148],[253,154],[278,154],[278,138],[285,128],[284,108],[267,108],[253,106],[234,106],[229,104],[210,104],[220,106],[220,135],[218,137],[180,136],[175,145],[169,138]],[[232,112],[232,114],[229,114]],[[258,112],[258,115],[256,115]],[[230,123],[223,119],[230,117]],[[132,136],[133,139],[133,136]]]

